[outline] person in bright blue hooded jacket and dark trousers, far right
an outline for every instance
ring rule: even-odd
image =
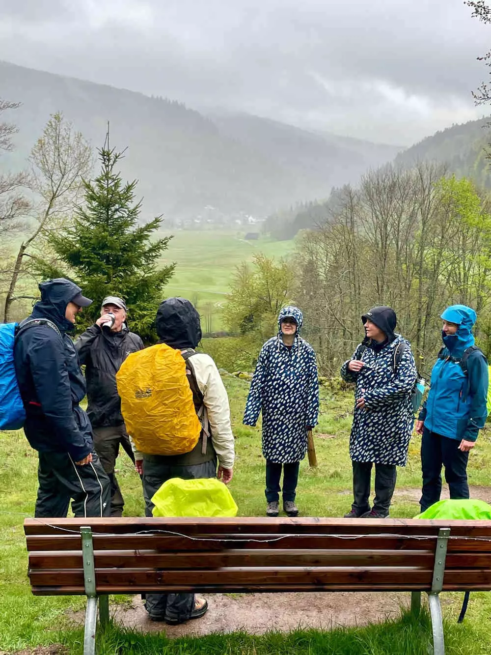
[[[461,365],[465,350],[474,345],[476,312],[452,305],[441,318],[445,347],[431,371],[431,388],[416,421],[416,432],[422,434],[422,512],[440,500],[442,465],[450,498],[469,498],[467,460],[487,416],[486,358],[475,348],[467,353],[467,374]]]

